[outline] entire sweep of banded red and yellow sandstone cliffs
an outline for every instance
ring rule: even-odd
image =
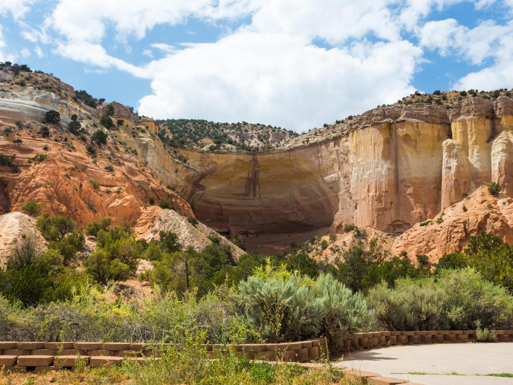
[[[272,253],[291,241],[342,233],[344,225],[355,224],[402,234],[398,239],[408,241],[395,240],[399,248],[435,258],[441,246],[410,236],[417,223],[447,215],[491,181],[500,183],[505,196],[513,195],[509,91],[495,100],[484,94],[458,101],[454,93],[450,104],[438,99],[438,104],[375,108],[259,153],[170,147],[157,122],[111,103],[116,125],[91,159],[84,141],[65,126],[76,113],[91,134],[110,108],[78,103],[70,86],[48,75],[33,74],[34,85],[27,87],[9,76],[0,73],[2,84],[9,85],[0,91],[0,132],[12,133],[0,138],[0,153],[15,155],[21,172],[0,166],[4,211],[36,199],[45,211],[82,223],[108,214],[115,222],[134,224],[154,198],[169,200],[185,217],[194,215],[190,203],[198,219],[220,234],[242,234],[251,252]],[[50,88],[35,85],[41,82]],[[61,112],[62,123],[50,126],[48,139],[38,130],[50,109]],[[18,120],[29,122],[18,128]],[[15,143],[18,138],[23,141]],[[32,160],[41,153],[48,158]],[[105,171],[108,165],[112,172]],[[465,236],[456,240],[447,235],[455,230],[435,238],[447,243],[444,250],[456,249],[479,223],[466,222]],[[509,222],[501,223],[501,235],[509,239]]]

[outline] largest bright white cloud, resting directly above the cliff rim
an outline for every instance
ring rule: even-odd
[[[303,131],[412,92],[420,54],[404,41],[326,50],[303,37],[240,31],[150,63],[154,94],[139,111]]]

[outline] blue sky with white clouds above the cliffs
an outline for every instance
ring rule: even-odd
[[[0,0],[0,61],[155,119],[297,132],[513,87],[513,0]]]

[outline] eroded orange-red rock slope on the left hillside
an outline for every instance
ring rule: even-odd
[[[12,173],[11,167],[0,166],[0,187],[4,187],[0,204],[5,211],[19,211],[24,202],[35,199],[43,203],[43,212],[69,215],[81,225],[108,215],[113,223],[133,225],[153,198],[156,203],[169,201],[184,216],[194,216],[186,201],[162,186],[144,162],[118,144],[109,140],[96,147],[93,158],[84,143],[58,127],[52,128],[51,137],[60,142],[41,138],[40,125],[31,127],[0,137],[0,153],[15,155],[21,170]],[[23,138],[22,143],[14,143],[16,138]],[[32,161],[38,154],[47,158]],[[112,172],[105,169],[108,165]]]

